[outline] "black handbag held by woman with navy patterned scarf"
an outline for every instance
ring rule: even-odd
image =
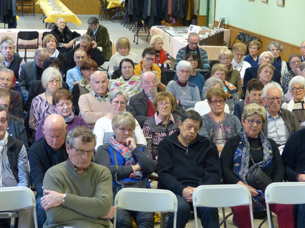
[[[267,186],[272,183],[272,180],[266,173],[264,173],[264,171],[262,171],[261,167],[255,164],[255,162],[251,157],[250,152],[249,155],[254,164],[254,167],[252,168],[251,172],[247,175],[248,185],[252,186],[256,190],[262,190],[262,192],[265,192]]]

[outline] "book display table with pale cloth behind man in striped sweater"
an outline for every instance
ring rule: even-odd
[[[208,30],[208,29],[206,29],[206,30]],[[202,33],[205,34],[206,30],[203,30],[203,31],[200,30],[199,33],[201,34],[201,31],[202,31]],[[154,35],[159,35],[164,39],[163,49],[165,51],[167,51],[171,57],[174,57],[174,58],[176,57],[179,49],[181,49],[187,45],[187,40],[185,37],[172,37],[170,34],[164,32],[163,29],[160,29],[156,26],[152,26],[152,28],[151,28],[151,37],[153,37]],[[225,30],[224,36],[225,36],[224,40],[225,41],[228,40],[227,43],[229,43],[230,30],[228,30],[227,32]],[[207,52],[209,60],[218,60],[218,53],[223,49],[228,49],[227,46],[200,46],[200,47]]]

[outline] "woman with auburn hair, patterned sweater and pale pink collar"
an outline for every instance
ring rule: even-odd
[[[143,125],[147,146],[152,152],[152,159],[157,161],[158,144],[163,136],[171,135],[179,129],[181,116],[173,114],[176,107],[174,95],[160,92],[153,98],[156,113],[145,121]]]

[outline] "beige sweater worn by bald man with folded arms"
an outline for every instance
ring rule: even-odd
[[[94,128],[94,125],[99,118],[110,113],[109,99],[104,103],[101,103],[91,94],[81,95],[78,100],[78,106],[80,109],[80,116],[86,121],[90,129]]]

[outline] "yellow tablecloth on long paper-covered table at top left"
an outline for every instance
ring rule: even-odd
[[[36,4],[40,5],[42,10],[44,11],[44,14],[46,16],[44,22],[55,23],[57,18],[64,18],[65,22],[72,22],[76,23],[78,26],[81,26],[82,21],[78,19],[76,15],[71,12],[71,10],[69,10],[60,0],[56,1],[56,3],[62,7],[65,13],[57,14],[53,12],[53,8],[51,5],[48,5],[47,0],[38,0],[36,2]]]

